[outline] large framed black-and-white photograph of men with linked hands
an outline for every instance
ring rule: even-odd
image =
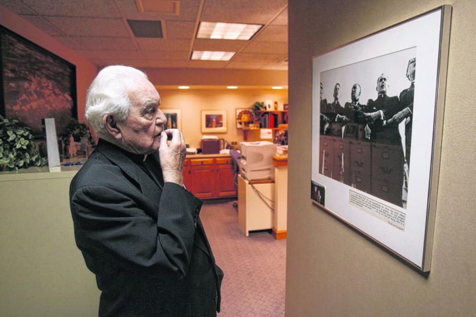
[[[311,200],[422,271],[431,264],[450,21],[444,5],[313,57]],[[322,189],[325,204],[316,201]]]

